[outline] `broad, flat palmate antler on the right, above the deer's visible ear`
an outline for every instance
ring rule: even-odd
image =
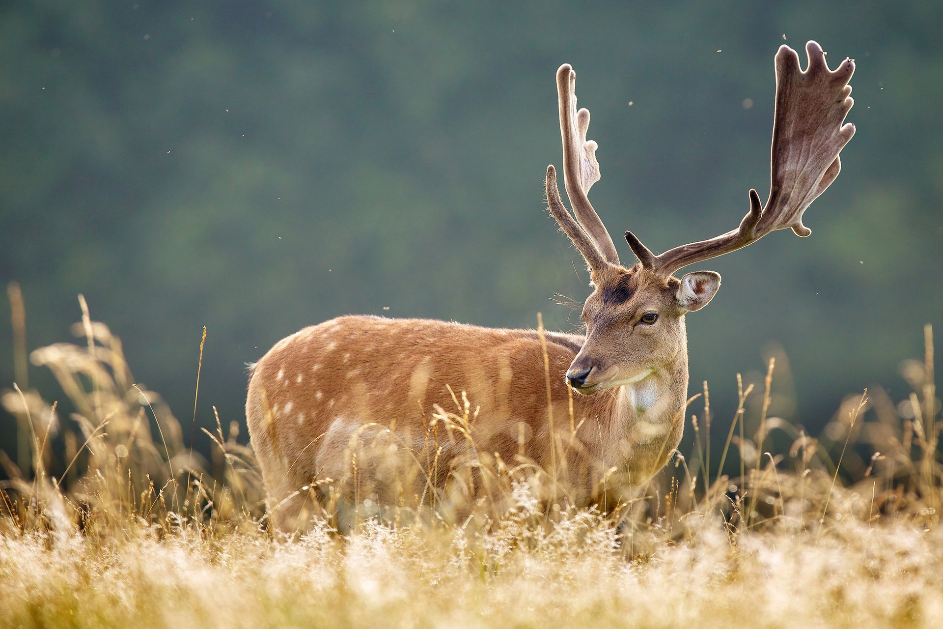
[[[738,228],[660,256],[625,232],[625,240],[643,266],[667,276],[688,264],[736,251],[776,229],[791,227],[803,238],[812,233],[802,224],[802,212],[835,181],[841,170],[838,153],[854,135],[853,124],[842,124],[854,104],[848,85],[854,61],[846,58],[832,72],[818,43],[809,41],[805,51],[809,58],[805,72],[792,48],[784,45],[776,53],[776,111],[766,206],[760,205],[756,190],[750,190],[750,211]]]

